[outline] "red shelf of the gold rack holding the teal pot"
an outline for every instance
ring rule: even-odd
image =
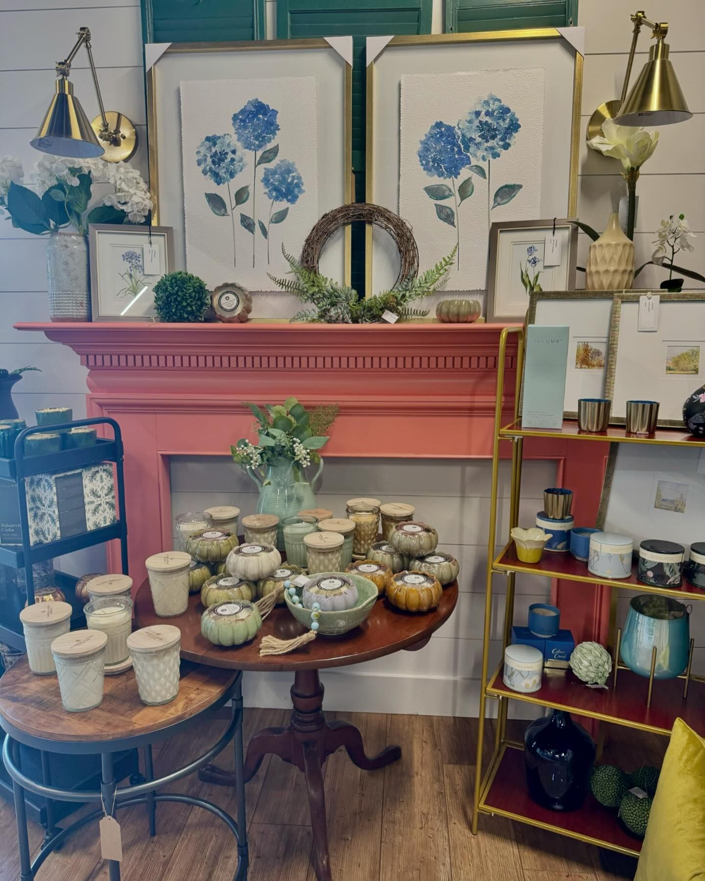
[[[487,693],[495,697],[523,700],[526,703],[540,704],[542,707],[556,707],[570,713],[604,719],[629,728],[638,727],[657,734],[671,734],[673,722],[679,716],[701,737],[705,737],[705,682],[691,679],[688,698],[683,700],[684,679],[663,679],[654,682],[651,707],[647,708],[649,680],[637,676],[631,670],[621,670],[617,676],[617,689],[612,688],[612,677],[604,688],[588,688],[573,675],[571,670],[565,674],[544,674],[538,692],[523,694],[513,692],[504,685],[501,666],[494,673]]]

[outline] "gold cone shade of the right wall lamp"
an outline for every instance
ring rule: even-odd
[[[685,122],[693,114],[680,91],[668,44],[658,41],[649,50],[649,61],[637,78],[614,122],[618,125],[670,125]]]

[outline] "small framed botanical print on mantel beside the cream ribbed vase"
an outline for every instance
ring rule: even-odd
[[[531,290],[574,290],[577,242],[577,226],[568,219],[494,223],[487,270],[487,322],[523,322]]]

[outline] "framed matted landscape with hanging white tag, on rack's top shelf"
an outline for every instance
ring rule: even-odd
[[[624,421],[629,400],[659,402],[660,426],[683,425],[683,402],[705,383],[705,292],[661,294],[656,330],[639,329],[639,298],[615,297],[606,396]]]

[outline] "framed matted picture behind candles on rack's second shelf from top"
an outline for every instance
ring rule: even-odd
[[[687,545],[702,541],[705,474],[701,448],[613,444],[597,526]],[[687,558],[687,553],[686,553]]]

